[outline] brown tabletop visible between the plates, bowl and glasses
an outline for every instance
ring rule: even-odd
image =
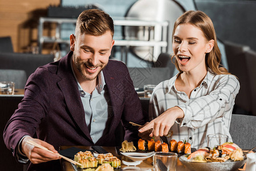
[[[76,147],[79,149],[84,149],[84,150],[92,150],[91,146],[60,146],[60,150],[65,150],[71,147]],[[101,146],[103,149],[105,149],[107,152],[112,153],[113,156],[116,156],[117,158],[119,158],[121,161],[132,161],[131,159],[127,158],[126,156],[123,155],[119,155],[115,146]],[[64,171],[74,171],[74,167],[72,166],[72,164],[66,160],[61,159],[60,160],[62,166],[63,166],[63,170]],[[246,166],[246,164],[245,164]],[[243,168],[237,169],[237,170],[245,170],[245,166],[243,166]],[[130,166],[131,167],[131,166]],[[127,165],[124,165],[123,162],[121,162],[121,169],[120,170],[129,170],[127,169]],[[137,170],[153,170],[153,157],[149,157],[146,160],[143,160],[143,162],[141,162],[140,165],[136,166]],[[136,170],[135,166],[133,166],[133,168],[131,168],[130,170]],[[140,168],[140,169],[138,169]],[[237,171],[235,170],[235,171]],[[177,168],[176,171],[190,171],[189,168],[187,168],[185,165],[182,165],[180,160],[177,160]]]

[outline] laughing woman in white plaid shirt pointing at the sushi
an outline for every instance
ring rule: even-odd
[[[193,148],[207,146],[210,134],[229,134],[231,113],[239,82],[220,66],[221,53],[211,19],[202,11],[187,11],[174,23],[173,55],[180,71],[161,82],[152,93],[149,116],[139,131],[150,136],[173,136]],[[155,118],[155,119],[154,119]]]

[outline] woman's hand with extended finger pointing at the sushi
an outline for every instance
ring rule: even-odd
[[[160,116],[153,119],[145,127],[139,129],[139,132],[145,132],[153,128],[152,133],[149,136],[164,136],[167,135],[170,127],[174,124],[176,119],[184,117],[184,112],[179,107],[173,107],[167,109]]]

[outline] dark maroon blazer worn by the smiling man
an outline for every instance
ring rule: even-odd
[[[115,137],[115,132],[120,121],[125,129],[124,139],[137,141],[137,128],[128,122],[144,124],[144,118],[125,64],[109,60],[103,70],[113,114],[110,116],[109,129],[94,144],[86,125],[78,84],[72,73],[71,58],[72,52],[57,62],[39,67],[27,80],[22,103],[11,116],[3,133],[5,144],[14,157],[21,138],[25,135],[34,136],[35,133],[38,139],[52,144],[56,150],[62,145],[115,146],[119,139]],[[56,165],[59,161],[31,165],[30,168],[43,170],[47,167],[48,170],[50,163]],[[57,165],[55,169],[59,168]]]

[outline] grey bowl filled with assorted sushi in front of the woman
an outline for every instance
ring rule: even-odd
[[[213,149],[200,148],[179,160],[191,170],[235,170],[245,164],[246,157],[237,144],[227,142]]]

